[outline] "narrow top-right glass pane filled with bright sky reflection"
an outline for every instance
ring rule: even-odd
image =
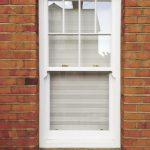
[[[97,0],[96,15],[98,19],[97,31],[100,33],[111,33],[112,6],[111,0]]]

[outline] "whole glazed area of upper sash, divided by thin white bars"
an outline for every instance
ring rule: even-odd
[[[80,2],[79,5],[78,0],[48,1],[49,32],[57,33],[57,36],[49,38],[50,66],[77,66],[80,64],[79,61],[81,66],[87,67],[110,66],[111,0]],[[81,33],[87,34],[59,35],[59,33],[79,33],[79,29]],[[103,35],[88,35],[88,33]]]

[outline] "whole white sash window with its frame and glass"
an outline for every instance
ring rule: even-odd
[[[40,0],[40,147],[120,147],[121,0]]]

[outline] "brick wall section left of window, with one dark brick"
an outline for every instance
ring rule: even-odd
[[[0,0],[0,149],[38,149],[37,1]]]

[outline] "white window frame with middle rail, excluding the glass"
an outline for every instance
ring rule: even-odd
[[[80,1],[80,0],[79,0]],[[41,148],[119,148],[120,147],[120,25],[121,0],[112,0],[112,53],[110,67],[49,67],[48,3],[39,0],[40,61],[40,147]],[[80,50],[80,48],[79,48]],[[80,56],[79,56],[80,57]],[[51,131],[50,74],[48,72],[111,72],[109,76],[108,131]],[[47,114],[47,115],[46,115]]]

